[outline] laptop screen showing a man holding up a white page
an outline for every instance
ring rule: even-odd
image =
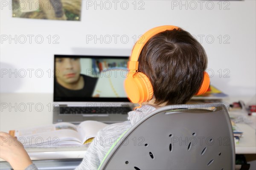
[[[54,55],[54,102],[129,102],[129,57]]]

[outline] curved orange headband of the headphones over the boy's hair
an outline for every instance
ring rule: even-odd
[[[138,59],[140,57],[140,53],[142,51],[142,48],[144,47],[145,43],[148,42],[148,40],[153,37],[154,35],[166,31],[166,30],[173,30],[178,29],[177,26],[158,26],[155,28],[152,28],[145,32],[139,40],[135,43],[132,51],[131,51],[131,57],[130,61],[128,62],[128,69],[129,70],[138,70]]]

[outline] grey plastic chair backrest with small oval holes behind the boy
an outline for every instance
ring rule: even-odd
[[[235,169],[233,130],[223,104],[159,108],[119,139],[99,169]]]

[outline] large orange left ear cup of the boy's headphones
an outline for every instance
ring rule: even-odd
[[[129,73],[133,74],[133,73]],[[128,76],[125,79],[125,91],[133,103],[142,103],[152,99],[153,97],[153,87],[148,77],[138,72],[134,75]]]

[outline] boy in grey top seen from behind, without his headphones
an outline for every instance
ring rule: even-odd
[[[207,68],[204,48],[181,28],[166,30],[150,38],[138,61],[138,71],[151,82],[152,98],[144,102],[143,107],[129,112],[128,121],[108,125],[100,130],[76,169],[98,169],[115,140],[156,108],[185,104],[200,89]],[[7,133],[0,133],[0,136],[10,137]],[[1,158],[9,161],[14,169],[36,169],[22,146],[6,143],[1,146]]]

